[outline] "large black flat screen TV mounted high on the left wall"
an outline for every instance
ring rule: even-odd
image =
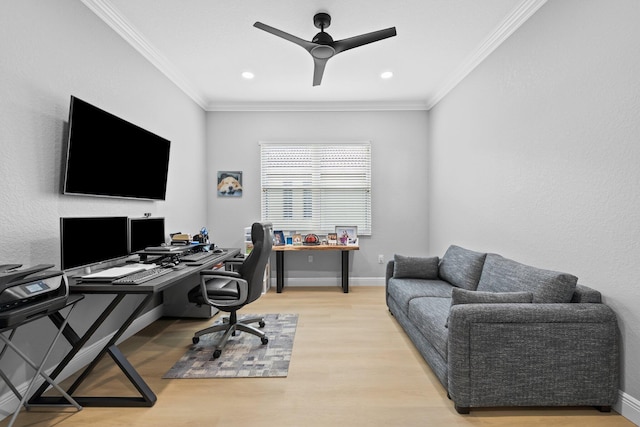
[[[165,200],[171,142],[75,96],[64,194]]]

